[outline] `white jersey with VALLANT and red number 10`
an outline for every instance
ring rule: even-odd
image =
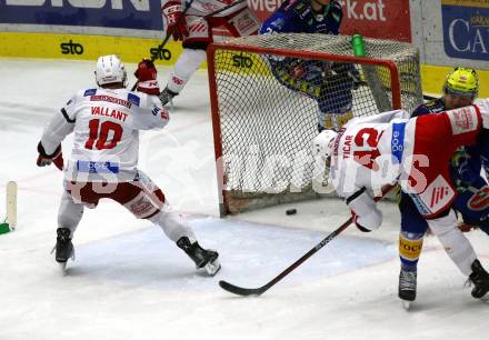
[[[73,132],[64,179],[78,182],[132,181],[139,130],[161,129],[170,117],[157,96],[127,89],[87,89],[73,96],[46,127],[41,143],[52,153]]]

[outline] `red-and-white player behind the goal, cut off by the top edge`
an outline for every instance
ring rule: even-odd
[[[233,1],[163,0],[161,2],[164,31],[171,32],[173,40],[181,40],[183,46],[168,84],[160,94],[163,106],[183,90],[189,79],[206,60],[206,49],[213,41],[213,28],[223,27],[232,37],[247,37],[258,32],[259,21],[248,8],[248,3],[234,1],[239,3],[216,16],[212,16],[212,12],[232,4]],[[190,8],[186,11],[189,4]]]

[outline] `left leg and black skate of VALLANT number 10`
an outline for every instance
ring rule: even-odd
[[[66,263],[74,258],[74,249],[71,239],[83,216],[83,204],[73,201],[73,198],[64,191],[58,211],[58,230],[56,240],[56,261]]]

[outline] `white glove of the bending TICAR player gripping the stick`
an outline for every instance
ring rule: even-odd
[[[369,232],[376,230],[382,223],[382,212],[377,208],[376,201],[367,192],[366,188],[361,188],[350,194],[346,202],[353,214],[355,224],[361,231]]]

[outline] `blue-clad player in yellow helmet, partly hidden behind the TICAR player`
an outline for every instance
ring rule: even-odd
[[[411,117],[436,114],[470,106],[477,98],[478,90],[477,72],[472,69],[456,68],[446,78],[443,97],[419,106]],[[437,137],[433,136],[433,138]],[[480,174],[482,160],[478,148],[480,147],[462,147],[451,159],[450,174],[458,192],[453,208],[460,212],[465,223],[478,226],[482,231],[489,233],[489,187]],[[406,193],[400,196],[399,209],[401,212],[399,298],[413,301],[416,299],[417,264],[428,223]]]

